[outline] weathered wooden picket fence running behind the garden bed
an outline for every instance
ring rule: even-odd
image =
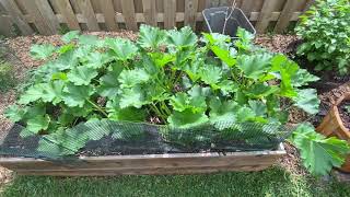
[[[164,28],[189,25],[200,30],[201,11],[233,0],[0,0],[0,34],[57,34],[62,26],[82,31],[137,31],[140,23]],[[236,0],[258,33],[276,24],[277,33],[313,0]],[[276,23],[271,23],[276,22]],[[18,31],[13,31],[18,30]]]

